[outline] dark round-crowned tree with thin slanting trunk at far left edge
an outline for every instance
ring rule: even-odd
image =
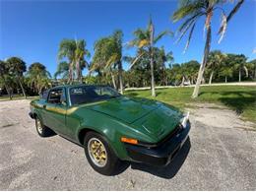
[[[25,89],[23,86],[23,74],[26,72],[26,63],[19,57],[11,57],[6,60],[7,68],[9,71],[9,75],[13,76],[17,82],[19,83],[19,86],[22,89],[23,95],[26,98]]]

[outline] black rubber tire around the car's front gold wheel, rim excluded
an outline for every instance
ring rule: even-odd
[[[90,145],[89,142],[91,142],[92,140],[94,141],[94,139],[100,141],[101,144],[103,144],[103,147],[106,152],[106,162],[102,166],[98,166],[96,164],[96,162],[93,160],[94,158],[92,158],[92,154],[90,155],[90,152],[89,152],[89,145]],[[120,166],[121,160],[117,158],[117,156],[109,146],[107,140],[103,136],[99,135],[96,132],[88,132],[84,139],[84,147],[85,147],[85,154],[86,154],[87,160],[98,173],[103,175],[115,174],[118,167]]]

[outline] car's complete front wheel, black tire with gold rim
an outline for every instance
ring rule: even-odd
[[[107,140],[95,132],[86,134],[85,154],[91,166],[100,174],[112,175],[120,164]]]

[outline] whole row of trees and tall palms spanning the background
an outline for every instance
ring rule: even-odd
[[[146,29],[137,29],[134,38],[127,44],[123,43],[123,32],[117,30],[108,36],[96,40],[94,56],[89,62],[90,52],[85,39],[63,39],[58,49],[58,66],[54,74],[58,83],[73,84],[85,82],[87,84],[108,84],[123,94],[125,87],[151,86],[152,96],[156,96],[155,85],[185,85],[195,84],[192,97],[198,96],[202,82],[233,81],[238,73],[238,80],[255,79],[255,60],[246,62],[242,54],[224,54],[219,50],[211,52],[212,18],[214,14],[222,14],[221,28],[218,33],[220,40],[224,37],[227,23],[239,10],[244,0],[238,0],[231,11],[226,14],[224,7],[228,1],[220,0],[180,0],[178,9],[173,13],[174,22],[183,21],[178,32],[179,41],[185,33],[188,48],[197,22],[205,20],[204,30],[206,41],[203,62],[189,61],[174,63],[172,52],[165,52],[164,47],[158,47],[157,42],[164,35],[172,36],[173,32],[156,34],[155,25],[150,18]],[[136,48],[135,56],[122,55],[122,49]],[[185,51],[184,50],[184,51]],[[123,62],[130,63],[128,71],[123,70]],[[87,68],[89,75],[83,77],[82,71]],[[18,69],[18,70],[17,70]],[[33,63],[26,72],[25,62],[18,57],[1,61],[1,82],[9,94],[21,89],[24,96],[29,93],[41,93],[43,89],[52,86],[52,81],[46,67],[40,63]],[[26,73],[25,73],[26,72]],[[24,76],[25,74],[25,76]]]

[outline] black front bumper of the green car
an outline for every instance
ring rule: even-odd
[[[166,165],[173,160],[182,148],[188,138],[189,130],[190,122],[188,121],[185,128],[175,129],[173,134],[170,133],[170,137],[167,137],[154,147],[125,144],[128,156],[134,161],[152,165]]]

